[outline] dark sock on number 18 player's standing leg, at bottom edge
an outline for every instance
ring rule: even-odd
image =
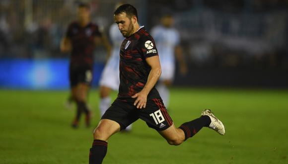
[[[108,143],[102,140],[94,140],[89,153],[89,164],[102,164],[107,153]]]

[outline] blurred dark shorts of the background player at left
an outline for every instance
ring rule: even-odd
[[[93,78],[92,69],[88,67],[72,68],[70,67],[70,86],[76,86],[78,83],[91,85]]]

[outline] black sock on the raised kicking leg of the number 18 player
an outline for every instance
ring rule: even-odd
[[[193,137],[197,132],[199,132],[203,127],[208,127],[211,123],[209,116],[201,116],[190,122],[185,122],[179,128],[184,131],[185,140]]]

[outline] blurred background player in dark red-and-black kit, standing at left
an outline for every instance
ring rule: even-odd
[[[91,112],[87,107],[87,95],[92,82],[93,51],[97,44],[103,43],[110,53],[110,45],[98,26],[91,22],[90,6],[80,3],[77,8],[77,20],[72,22],[63,38],[60,49],[62,52],[71,51],[70,85],[71,100],[76,102],[76,116],[72,127],[77,128],[81,114],[85,113],[85,123],[89,127]]]

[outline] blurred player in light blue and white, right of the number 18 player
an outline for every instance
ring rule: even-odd
[[[156,85],[157,90],[165,104],[169,108],[169,90],[174,80],[175,57],[178,62],[181,75],[186,75],[187,66],[183,58],[182,48],[180,46],[180,35],[173,27],[174,19],[171,13],[164,13],[160,20],[161,24],[156,25],[151,30],[151,36],[157,44],[159,60],[162,74]]]

